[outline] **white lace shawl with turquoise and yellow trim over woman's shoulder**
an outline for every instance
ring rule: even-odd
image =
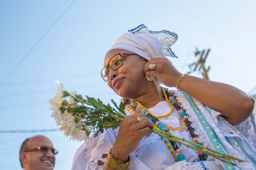
[[[174,91],[177,99],[189,113],[191,126],[204,146],[220,150],[247,162],[238,163],[241,169],[256,169],[256,133],[253,114],[234,127],[217,112],[184,92]],[[240,169],[216,160],[224,169]]]

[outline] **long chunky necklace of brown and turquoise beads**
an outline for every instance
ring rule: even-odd
[[[180,115],[180,118],[179,118],[180,122],[185,122],[185,124],[186,124],[186,126],[187,126],[187,128],[189,130],[189,133],[190,133],[190,135],[192,137],[192,141],[194,143],[198,144],[198,145],[202,145],[201,143],[198,142],[198,136],[195,135],[195,133],[194,133],[195,129],[193,127],[191,127],[191,122],[188,120],[189,114],[187,113],[187,111],[183,107],[181,107],[181,103],[179,103],[177,101],[176,96],[174,96],[174,92],[169,91],[167,88],[163,88],[162,86],[161,86],[161,89],[163,91],[163,94],[165,95],[166,101],[169,101],[168,103],[171,104],[170,107],[173,105],[173,107],[175,107],[175,109],[178,111],[178,113]],[[135,109],[136,109],[137,104],[140,104],[140,103],[133,101],[133,102],[131,102],[130,105],[126,105],[125,108],[128,111],[130,111],[131,114],[133,114]],[[173,108],[173,107],[171,107],[171,108]],[[173,109],[171,109],[171,111],[173,111]],[[172,129],[172,127],[170,128],[168,125],[166,126],[166,124],[162,124],[162,122],[160,122],[160,120],[158,120],[157,116],[153,116],[152,113],[150,113],[145,107],[143,107],[142,113],[144,114],[144,116],[149,118],[148,119],[149,121],[154,123],[154,125],[155,125],[154,128],[158,128],[158,129],[160,129],[163,132],[174,130],[174,129]],[[166,115],[164,115],[164,116],[167,117]],[[182,128],[179,127],[178,130],[181,130],[183,128],[184,127],[182,127]],[[176,142],[169,141],[169,140],[167,140],[164,137],[161,137],[161,139],[166,144],[166,146],[169,149],[170,153],[172,154],[175,162],[178,162],[178,161],[181,161],[181,160],[185,159],[185,156],[182,154],[182,152],[179,149],[179,146],[177,145]],[[171,147],[170,143],[171,143],[172,147]],[[173,148],[174,148],[175,152],[174,152]],[[199,156],[200,161],[207,160],[207,155],[206,154],[203,154],[202,152],[198,152],[197,151],[197,155]]]

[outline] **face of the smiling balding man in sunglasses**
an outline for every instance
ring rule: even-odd
[[[27,150],[31,150],[40,146],[46,146],[48,148],[53,148],[51,141],[44,136],[35,136],[28,140]],[[29,167],[29,169],[38,170],[52,170],[55,165],[55,156],[49,150],[46,154],[39,150],[25,152],[26,162],[23,163],[23,167]],[[26,165],[25,165],[26,164]]]

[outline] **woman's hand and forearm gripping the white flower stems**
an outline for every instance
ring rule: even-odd
[[[136,150],[141,139],[151,135],[150,128],[154,128],[154,124],[144,117],[141,110],[141,106],[137,105],[135,113],[122,120],[111,150],[116,160],[127,162],[129,154]]]

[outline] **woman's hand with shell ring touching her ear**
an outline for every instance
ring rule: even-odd
[[[153,67],[151,69],[149,66]],[[167,58],[153,58],[144,66],[146,76],[158,78],[165,86],[175,87],[181,73],[172,65]]]

